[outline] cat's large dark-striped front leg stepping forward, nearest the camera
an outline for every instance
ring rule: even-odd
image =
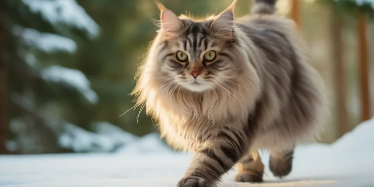
[[[216,187],[221,176],[246,153],[248,138],[243,128],[225,128],[195,145],[192,162],[178,187]]]

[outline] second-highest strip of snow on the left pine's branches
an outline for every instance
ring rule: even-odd
[[[77,46],[74,40],[50,33],[40,33],[35,29],[15,27],[13,33],[20,36],[26,45],[36,47],[46,53],[64,51],[75,53]],[[35,59],[29,59],[35,60]],[[30,63],[35,63],[31,62]]]

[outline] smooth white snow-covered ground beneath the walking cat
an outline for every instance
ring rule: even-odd
[[[374,187],[374,119],[333,145],[295,151],[294,168],[283,180],[265,169],[261,184],[233,181],[223,187]],[[148,149],[152,148],[152,149]],[[11,187],[175,187],[191,154],[173,153],[149,135],[112,154],[0,156],[0,186]],[[268,156],[262,160],[267,166]]]

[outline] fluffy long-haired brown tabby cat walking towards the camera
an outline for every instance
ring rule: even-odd
[[[131,94],[170,146],[193,152],[178,187],[216,187],[234,165],[236,181],[261,182],[258,150],[284,177],[295,146],[315,141],[328,113],[294,21],[275,15],[276,0],[254,0],[236,19],[236,1],[200,20],[156,1],[160,27]]]

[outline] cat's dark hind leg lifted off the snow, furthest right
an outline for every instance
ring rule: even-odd
[[[284,177],[292,170],[294,149],[287,151],[271,151],[269,167],[276,177]]]

